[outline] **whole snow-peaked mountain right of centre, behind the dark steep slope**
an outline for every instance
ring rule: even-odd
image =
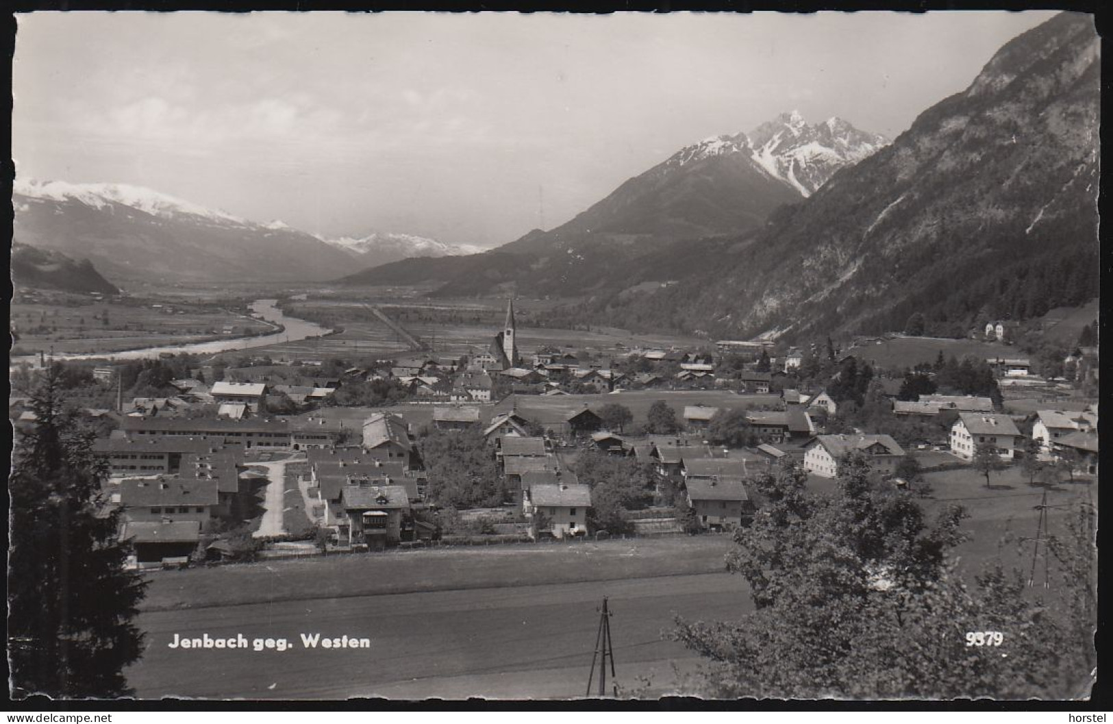
[[[679,241],[761,228],[777,208],[801,202],[886,143],[840,118],[809,126],[796,111],[781,114],[749,135],[681,148],[552,231],[534,229],[463,263],[407,260],[343,282],[434,283],[441,295],[590,293],[632,258]]]

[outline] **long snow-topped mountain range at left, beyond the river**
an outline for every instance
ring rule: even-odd
[[[321,238],[125,184],[19,179],[14,238],[88,258],[110,278],[167,282],[323,282],[405,258],[466,254],[405,234]]]

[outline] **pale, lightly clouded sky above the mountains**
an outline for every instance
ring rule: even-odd
[[[799,109],[895,137],[1050,12],[19,17],[20,177],[494,246]],[[543,189],[543,192],[541,190]]]

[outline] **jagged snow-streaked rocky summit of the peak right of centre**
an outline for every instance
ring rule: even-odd
[[[800,195],[814,194],[838,169],[858,163],[889,139],[855,128],[833,116],[809,126],[799,111],[780,114],[749,134],[712,136],[673,154],[667,166],[684,166],[712,156],[742,154]]]

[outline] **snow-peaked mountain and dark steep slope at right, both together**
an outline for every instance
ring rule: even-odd
[[[1040,316],[1099,294],[1100,40],[1064,12],[890,144],[797,114],[689,146],[568,224],[349,283],[569,297],[564,316],[800,339]],[[865,136],[865,137],[863,137]]]

